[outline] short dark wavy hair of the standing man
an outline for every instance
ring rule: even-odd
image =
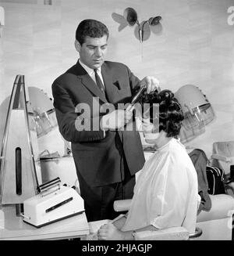
[[[102,38],[104,35],[109,35],[108,28],[104,23],[98,20],[83,20],[76,28],[76,40],[83,45],[85,38]]]

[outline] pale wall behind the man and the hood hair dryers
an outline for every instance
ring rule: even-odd
[[[37,4],[38,3],[38,4]],[[215,120],[190,146],[211,155],[215,141],[234,140],[234,25],[227,23],[234,0],[60,0],[0,1],[5,27],[0,38],[0,103],[12,90],[16,74],[27,86],[41,88],[51,97],[51,83],[78,57],[74,49],[77,24],[87,18],[108,25],[107,59],[126,63],[139,78],[154,75],[161,88],[175,91],[197,85],[215,110]],[[163,30],[141,45],[135,27],[118,31],[112,13],[126,7],[137,10],[140,21],[162,16]],[[1,127],[5,114],[1,113]],[[0,127],[0,128],[1,128]],[[0,138],[1,139],[1,138]]]

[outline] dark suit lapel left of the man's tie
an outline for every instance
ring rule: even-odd
[[[77,77],[80,79],[81,83],[92,93],[94,96],[99,97],[104,103],[107,102],[105,96],[101,92],[101,90],[97,87],[92,78],[90,78],[89,74],[87,74],[86,70],[81,67],[79,61],[76,63]]]

